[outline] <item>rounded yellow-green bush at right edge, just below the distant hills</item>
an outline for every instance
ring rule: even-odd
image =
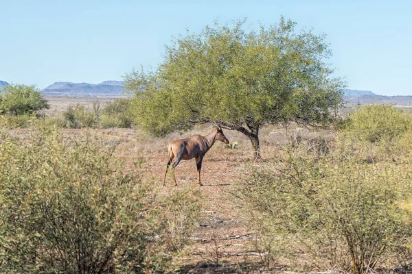
[[[347,118],[344,132],[354,140],[393,142],[411,129],[411,114],[393,105],[364,105]]]

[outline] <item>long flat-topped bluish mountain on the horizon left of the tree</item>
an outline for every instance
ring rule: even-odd
[[[47,96],[120,97],[124,93],[123,81],[104,81],[99,84],[56,82],[43,89]]]

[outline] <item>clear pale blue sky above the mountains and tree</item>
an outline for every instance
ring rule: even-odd
[[[171,36],[281,15],[327,34],[336,75],[352,89],[412,95],[412,1],[0,0],[0,80],[36,84],[122,79],[157,66]]]

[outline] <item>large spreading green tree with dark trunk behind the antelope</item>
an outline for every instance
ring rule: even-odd
[[[283,17],[258,30],[215,23],[174,38],[157,69],[128,73],[125,88],[135,94],[135,122],[149,132],[217,123],[250,138],[259,158],[262,125],[331,121],[343,82],[332,77],[330,55],[324,35],[297,32]]]

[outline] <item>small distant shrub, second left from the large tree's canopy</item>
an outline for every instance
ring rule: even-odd
[[[80,104],[69,105],[69,108],[62,112],[62,116],[65,119],[65,127],[69,128],[93,127],[98,123],[98,115]]]

